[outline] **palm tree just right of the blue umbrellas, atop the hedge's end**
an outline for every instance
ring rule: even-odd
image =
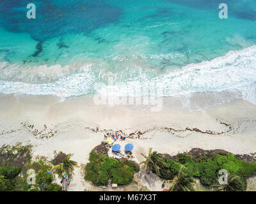
[[[148,156],[141,153],[143,157],[145,157],[145,161],[142,161],[140,164],[143,164],[142,168],[146,168],[147,173],[149,171],[154,170],[157,175],[159,175],[159,165],[164,164],[163,156],[160,153],[157,153],[156,151],[152,152],[152,148],[148,150]]]

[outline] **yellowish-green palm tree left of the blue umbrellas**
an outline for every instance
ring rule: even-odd
[[[65,154],[63,161],[54,166],[54,172],[57,173],[60,178],[63,173],[70,177],[72,174],[74,174],[74,167],[79,167],[76,161],[72,161],[70,159],[72,156],[73,154]]]

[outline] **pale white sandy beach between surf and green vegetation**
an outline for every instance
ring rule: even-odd
[[[189,112],[182,106],[164,106],[131,112],[122,106],[97,107],[81,99],[51,96],[0,96],[0,145],[22,142],[33,145],[34,155],[53,157],[54,150],[72,153],[78,164],[86,164],[90,151],[108,131],[119,131],[134,145],[134,159],[153,147],[161,153],[223,149],[234,154],[256,152],[256,106],[243,99]],[[89,105],[90,104],[90,105]],[[44,124],[47,128],[44,128]],[[151,190],[156,186],[145,186]],[[68,191],[93,190],[77,168]]]

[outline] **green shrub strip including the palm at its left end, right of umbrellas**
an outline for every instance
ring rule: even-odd
[[[246,178],[256,175],[256,163],[246,163],[230,153],[212,154],[211,157],[202,155],[198,158],[186,154],[177,154],[174,157],[175,159],[169,159],[157,152],[152,152],[152,149],[150,149],[148,156],[145,156],[145,158],[143,167],[147,168],[147,171],[152,170],[165,180],[177,178],[175,175],[179,175],[181,166],[184,166],[184,170],[182,170],[184,175],[200,179],[201,184],[205,186],[214,186],[218,185],[218,178],[220,177],[218,172],[225,169],[228,173],[239,177],[242,182],[241,185],[239,184],[240,189],[245,191]],[[225,189],[230,188],[225,187]]]

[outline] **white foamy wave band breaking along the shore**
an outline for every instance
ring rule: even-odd
[[[140,87],[149,87],[152,92],[161,89],[161,96],[179,96],[182,104],[192,110],[199,107],[191,105],[193,93],[206,94],[205,106],[234,98],[243,98],[256,105],[256,46],[230,51],[223,57],[189,64],[182,69],[169,69],[164,74],[140,63],[115,73],[112,84],[107,84],[109,76],[106,70],[95,68],[90,63],[24,69],[3,62],[0,64],[0,92],[68,98],[92,94],[97,83],[104,82],[106,84],[100,84],[94,91],[98,94],[141,96]]]

